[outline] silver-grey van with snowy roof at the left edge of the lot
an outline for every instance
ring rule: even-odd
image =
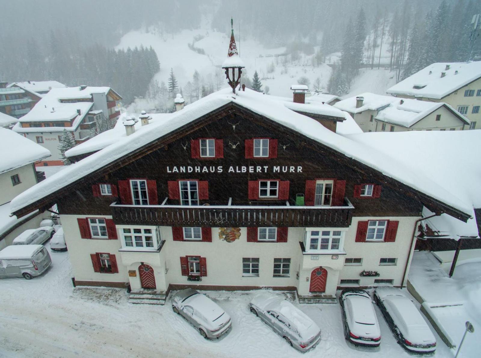
[[[45,272],[52,261],[42,245],[11,245],[0,251],[0,278],[31,279]]]

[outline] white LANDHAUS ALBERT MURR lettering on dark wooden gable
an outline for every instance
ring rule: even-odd
[[[224,170],[228,173],[302,173],[302,166],[269,166],[269,165],[257,165],[257,166],[175,166],[167,167],[168,173],[222,173]]]

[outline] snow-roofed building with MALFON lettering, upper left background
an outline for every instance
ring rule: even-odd
[[[40,165],[63,165],[58,149],[62,132],[71,132],[77,143],[95,136],[101,132],[100,123],[108,120],[114,124],[120,116],[116,107],[120,99],[110,87],[54,88],[19,119],[13,130],[50,150],[52,156]]]

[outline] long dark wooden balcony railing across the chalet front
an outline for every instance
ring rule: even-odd
[[[111,204],[118,225],[348,227],[354,206]]]

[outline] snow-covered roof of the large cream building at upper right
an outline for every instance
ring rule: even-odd
[[[443,73],[445,75],[441,77]],[[480,77],[481,61],[439,62],[423,68],[386,92],[441,99]]]

